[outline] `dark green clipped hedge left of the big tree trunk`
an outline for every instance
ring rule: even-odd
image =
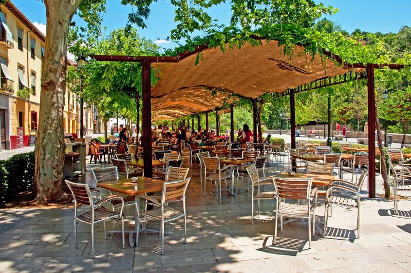
[[[0,205],[33,191],[34,152],[13,155],[0,160]]]

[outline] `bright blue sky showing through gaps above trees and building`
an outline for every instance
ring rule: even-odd
[[[120,0],[106,0],[106,14],[103,25],[106,33],[124,27],[127,22],[127,15],[132,9],[131,6],[123,6]],[[42,1],[39,0],[12,0],[34,25],[40,30],[46,29],[46,11]],[[328,19],[337,23],[343,30],[351,33],[354,29],[361,29],[368,32],[394,32],[397,33],[402,26],[411,26],[411,0],[315,0],[338,8],[339,12]],[[229,3],[229,1],[227,1]],[[173,48],[177,45],[167,41],[170,31],[176,25],[174,22],[174,7],[170,1],[158,0],[151,7],[151,16],[147,19],[146,29],[139,29],[140,36],[150,38],[165,48]],[[228,24],[230,20],[229,5],[220,5],[209,10],[213,18],[217,18],[220,24]],[[74,15],[73,20],[81,24],[81,19]]]

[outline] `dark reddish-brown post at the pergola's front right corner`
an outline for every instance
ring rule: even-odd
[[[374,65],[367,64],[368,87],[368,197],[376,197],[376,104]]]

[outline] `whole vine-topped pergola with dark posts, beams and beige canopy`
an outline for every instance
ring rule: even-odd
[[[375,197],[375,88],[374,70],[401,69],[402,65],[347,64],[323,50],[308,55],[295,46],[285,55],[276,40],[261,40],[260,46],[245,44],[241,49],[199,46],[177,56],[91,55],[99,61],[137,61],[142,64],[142,143],[151,155],[152,120],[207,113],[220,109],[230,94],[256,99],[266,93],[290,96],[291,148],[295,148],[295,93],[337,85],[349,79],[367,78],[368,86],[368,193]],[[197,65],[196,60],[200,59]],[[151,71],[159,81],[151,85]],[[233,106],[231,131],[233,135]],[[153,117],[152,117],[153,112]],[[254,109],[254,128],[256,110]],[[218,115],[217,115],[218,119]],[[208,127],[206,125],[206,127]],[[256,135],[256,130],[254,134]],[[151,156],[144,156],[144,175],[152,177]]]

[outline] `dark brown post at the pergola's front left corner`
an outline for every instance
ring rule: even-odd
[[[147,57],[141,64],[142,66],[142,93],[143,93],[143,113],[141,129],[143,131],[143,150],[144,150],[144,176],[153,177],[152,147],[151,147],[151,76],[150,61]]]

